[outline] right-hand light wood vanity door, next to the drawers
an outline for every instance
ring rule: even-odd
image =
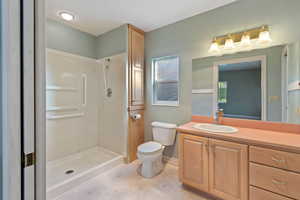
[[[248,199],[248,146],[209,140],[209,191],[226,200]]]

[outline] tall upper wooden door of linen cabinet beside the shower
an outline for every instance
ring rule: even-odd
[[[144,106],[144,33],[129,26],[130,106]]]

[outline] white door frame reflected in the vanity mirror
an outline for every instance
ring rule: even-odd
[[[245,58],[221,60],[214,62],[213,64],[213,106],[212,114],[215,116],[215,113],[218,109],[218,81],[219,81],[219,65],[224,64],[235,64],[241,62],[253,62],[261,61],[261,120],[267,120],[267,56],[252,56]]]

